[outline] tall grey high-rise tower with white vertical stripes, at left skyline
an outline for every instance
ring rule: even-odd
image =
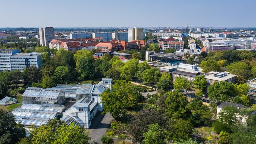
[[[50,41],[54,39],[54,28],[53,27],[45,27],[39,28],[39,36],[40,36],[40,44],[42,46],[49,45]]]

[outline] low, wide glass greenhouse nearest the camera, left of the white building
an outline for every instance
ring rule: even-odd
[[[64,110],[64,105],[23,104],[22,107],[12,110],[12,114],[14,114],[17,122],[20,122],[20,124],[23,124],[26,127],[30,125],[39,127],[46,124],[49,120],[61,115]]]

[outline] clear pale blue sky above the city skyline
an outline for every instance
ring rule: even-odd
[[[256,0],[1,0],[0,27],[256,27]]]

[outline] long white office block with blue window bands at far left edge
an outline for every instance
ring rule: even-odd
[[[19,53],[20,49],[0,49],[0,71],[23,71],[26,67],[39,67],[41,53]]]

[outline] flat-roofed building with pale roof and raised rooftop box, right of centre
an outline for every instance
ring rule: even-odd
[[[232,75],[230,72],[209,72],[208,76],[204,77],[207,82],[207,86],[210,84],[213,84],[214,82],[231,82],[233,84],[236,84],[236,78],[237,75]]]

